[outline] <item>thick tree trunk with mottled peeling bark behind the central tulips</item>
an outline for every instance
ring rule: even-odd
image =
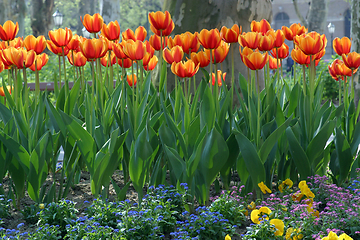
[[[233,24],[242,26],[243,31],[250,31],[250,23],[253,20],[260,21],[267,19],[271,22],[272,5],[271,0],[165,0],[164,10],[170,12],[175,23],[173,34],[184,33],[186,31],[200,32],[202,29],[232,27]],[[234,48],[235,79],[241,72],[247,76],[247,68],[243,64],[239,54],[239,45]],[[231,57],[218,64],[219,69],[227,72],[226,84],[231,82]],[[168,70],[170,71],[170,70]],[[208,69],[209,71],[209,69]],[[260,74],[263,76],[263,74]],[[201,74],[196,74],[197,81],[201,80]],[[168,74],[168,90],[174,88],[173,74]],[[237,81],[235,81],[237,82]],[[264,79],[262,79],[262,87]]]

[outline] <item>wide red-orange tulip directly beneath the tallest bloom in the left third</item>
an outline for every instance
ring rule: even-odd
[[[101,38],[86,39],[84,42],[80,43],[80,51],[88,61],[104,57],[107,50],[108,45]]]

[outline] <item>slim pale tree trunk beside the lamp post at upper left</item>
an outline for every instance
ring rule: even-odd
[[[48,36],[52,27],[54,0],[32,0],[31,29],[35,37]]]

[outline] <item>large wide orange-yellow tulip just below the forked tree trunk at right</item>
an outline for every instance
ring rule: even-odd
[[[317,32],[310,32],[295,36],[294,42],[306,55],[314,55],[325,48],[327,40],[325,35],[321,36]]]

